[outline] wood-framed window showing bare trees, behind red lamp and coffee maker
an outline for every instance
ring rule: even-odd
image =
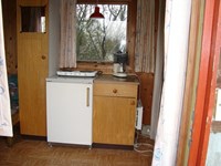
[[[88,19],[91,13],[94,12],[95,0],[77,0],[77,68],[112,72],[113,53],[123,51],[128,53],[128,70],[134,71],[137,0],[99,0],[98,3],[101,13],[105,17],[103,21]],[[109,13],[110,10],[108,8],[116,9],[115,12],[122,11],[122,14],[113,19],[114,14]],[[92,23],[93,25],[91,25]],[[103,28],[104,25],[105,29]],[[109,29],[114,27],[114,30],[118,31],[106,32],[107,25],[109,25]],[[92,32],[86,32],[87,29],[91,29]],[[105,32],[103,32],[104,30]],[[120,31],[122,33],[119,33]],[[83,32],[86,32],[85,35],[81,34]],[[117,33],[118,35],[116,37]],[[92,45],[88,45],[90,38]]]

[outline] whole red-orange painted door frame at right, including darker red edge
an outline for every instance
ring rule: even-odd
[[[206,163],[212,115],[211,107],[213,107],[212,102],[214,102],[213,76],[215,76],[217,72],[213,54],[214,39],[217,37],[217,20],[214,15],[219,3],[217,0],[206,1],[201,62],[188,165],[203,165]]]

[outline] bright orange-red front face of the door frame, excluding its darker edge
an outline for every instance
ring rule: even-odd
[[[212,38],[212,17],[213,17],[213,6],[214,0],[207,0],[206,11],[204,11],[204,23],[203,23],[203,37],[202,37],[202,49],[201,49],[201,62],[200,62],[200,73],[197,89],[197,103],[194,111],[194,120],[192,127],[192,143],[190,146],[189,160],[188,164],[196,165],[198,148],[199,148],[199,135],[202,124],[202,111],[206,100],[206,87],[208,79],[208,68],[209,68],[209,56],[210,56],[210,45]]]

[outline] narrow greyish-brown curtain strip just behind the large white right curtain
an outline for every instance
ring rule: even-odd
[[[162,81],[164,81],[165,6],[166,6],[166,0],[160,0],[159,11],[158,11],[158,28],[157,28],[158,32],[157,32],[157,45],[156,45],[155,83],[154,83],[151,121],[150,121],[151,139],[155,139],[157,133],[157,124],[159,118],[160,100],[161,100]]]

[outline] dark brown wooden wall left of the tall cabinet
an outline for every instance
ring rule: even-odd
[[[2,0],[7,70],[17,74],[17,0]]]

